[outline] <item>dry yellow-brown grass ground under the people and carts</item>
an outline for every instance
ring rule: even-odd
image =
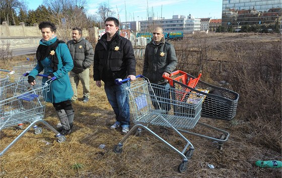
[[[228,36],[220,38],[224,40],[224,37],[228,38]],[[20,61],[24,61],[26,57],[33,58],[21,56]],[[209,74],[209,77],[213,77],[212,74]],[[79,91],[81,94],[81,85]],[[269,126],[258,130],[253,125],[257,121],[246,120],[243,112],[238,112],[230,122],[200,119],[201,122],[231,134],[223,150],[218,150],[212,141],[184,135],[194,145],[195,152],[183,173],[177,172],[181,158],[146,132],[142,132],[140,137],[130,136],[124,142],[123,152],[116,154],[112,148],[123,135],[120,131],[109,129],[115,117],[103,88],[96,87],[91,80],[91,91],[92,96],[88,103],[82,101],[74,103],[74,131],[66,136],[65,142],[61,144],[56,142],[54,133],[44,126],[41,135],[34,135],[29,131],[0,157],[0,177],[281,177],[281,169],[260,168],[254,165],[256,160],[281,160],[281,151],[275,149],[276,143],[268,147],[262,143],[263,141],[269,143],[264,139],[265,133],[273,134],[273,138],[279,138],[281,131],[268,132],[271,131]],[[50,103],[46,105],[45,121],[54,127],[58,123]],[[277,129],[274,127],[277,122],[273,121],[271,125],[272,129]],[[184,141],[171,129],[156,126],[150,128],[176,148],[183,149]],[[217,133],[199,126],[193,131],[217,136]],[[17,128],[1,130],[0,150],[11,143],[20,132],[21,130]],[[278,133],[278,136],[275,133]],[[277,139],[272,142],[281,144],[281,140]],[[105,144],[106,147],[100,149],[100,144]],[[208,168],[207,164],[213,164],[215,169]]]

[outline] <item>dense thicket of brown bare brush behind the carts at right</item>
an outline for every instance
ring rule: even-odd
[[[226,81],[240,94],[236,118],[251,122],[252,142],[280,151],[281,42],[219,39],[194,34],[174,43],[178,69],[214,85]]]

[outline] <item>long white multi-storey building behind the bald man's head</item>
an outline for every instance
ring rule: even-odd
[[[140,32],[151,32],[156,26],[162,27],[164,32],[192,33],[200,31],[200,19],[195,19],[191,15],[187,18],[183,15],[174,15],[172,19],[149,18],[147,21],[140,21]]]

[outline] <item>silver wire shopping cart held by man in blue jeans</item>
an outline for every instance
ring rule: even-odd
[[[178,170],[183,172],[187,168],[188,159],[193,155],[194,147],[178,129],[192,129],[196,125],[200,118],[201,103],[203,100],[197,95],[192,97],[194,99],[193,103],[182,102],[171,99],[170,97],[162,97],[160,93],[168,91],[170,91],[171,95],[183,97],[181,96],[183,92],[170,87],[167,90],[162,85],[150,83],[147,78],[141,75],[136,76],[136,78],[136,81],[131,82],[130,87],[126,88],[134,126],[118,145],[114,146],[113,151],[115,153],[121,153],[123,142],[129,135],[134,131],[136,131],[136,135],[139,135],[141,130],[144,129],[182,157],[182,162],[179,164]],[[129,79],[117,79],[116,83],[120,85],[128,80]],[[178,110],[174,110],[174,108],[178,108]],[[166,140],[149,129],[150,125],[171,128],[185,141],[186,145],[184,149],[179,151],[169,144]]]

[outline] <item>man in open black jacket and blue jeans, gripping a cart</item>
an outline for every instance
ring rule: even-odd
[[[94,81],[101,87],[101,80],[105,83],[104,88],[115,115],[116,122],[111,129],[122,128],[122,133],[129,131],[130,115],[126,87],[130,82],[115,85],[117,78],[135,80],[136,60],[131,42],[121,37],[118,31],[119,22],[116,18],[109,17],[105,20],[105,34],[101,36],[95,47],[94,54]]]

